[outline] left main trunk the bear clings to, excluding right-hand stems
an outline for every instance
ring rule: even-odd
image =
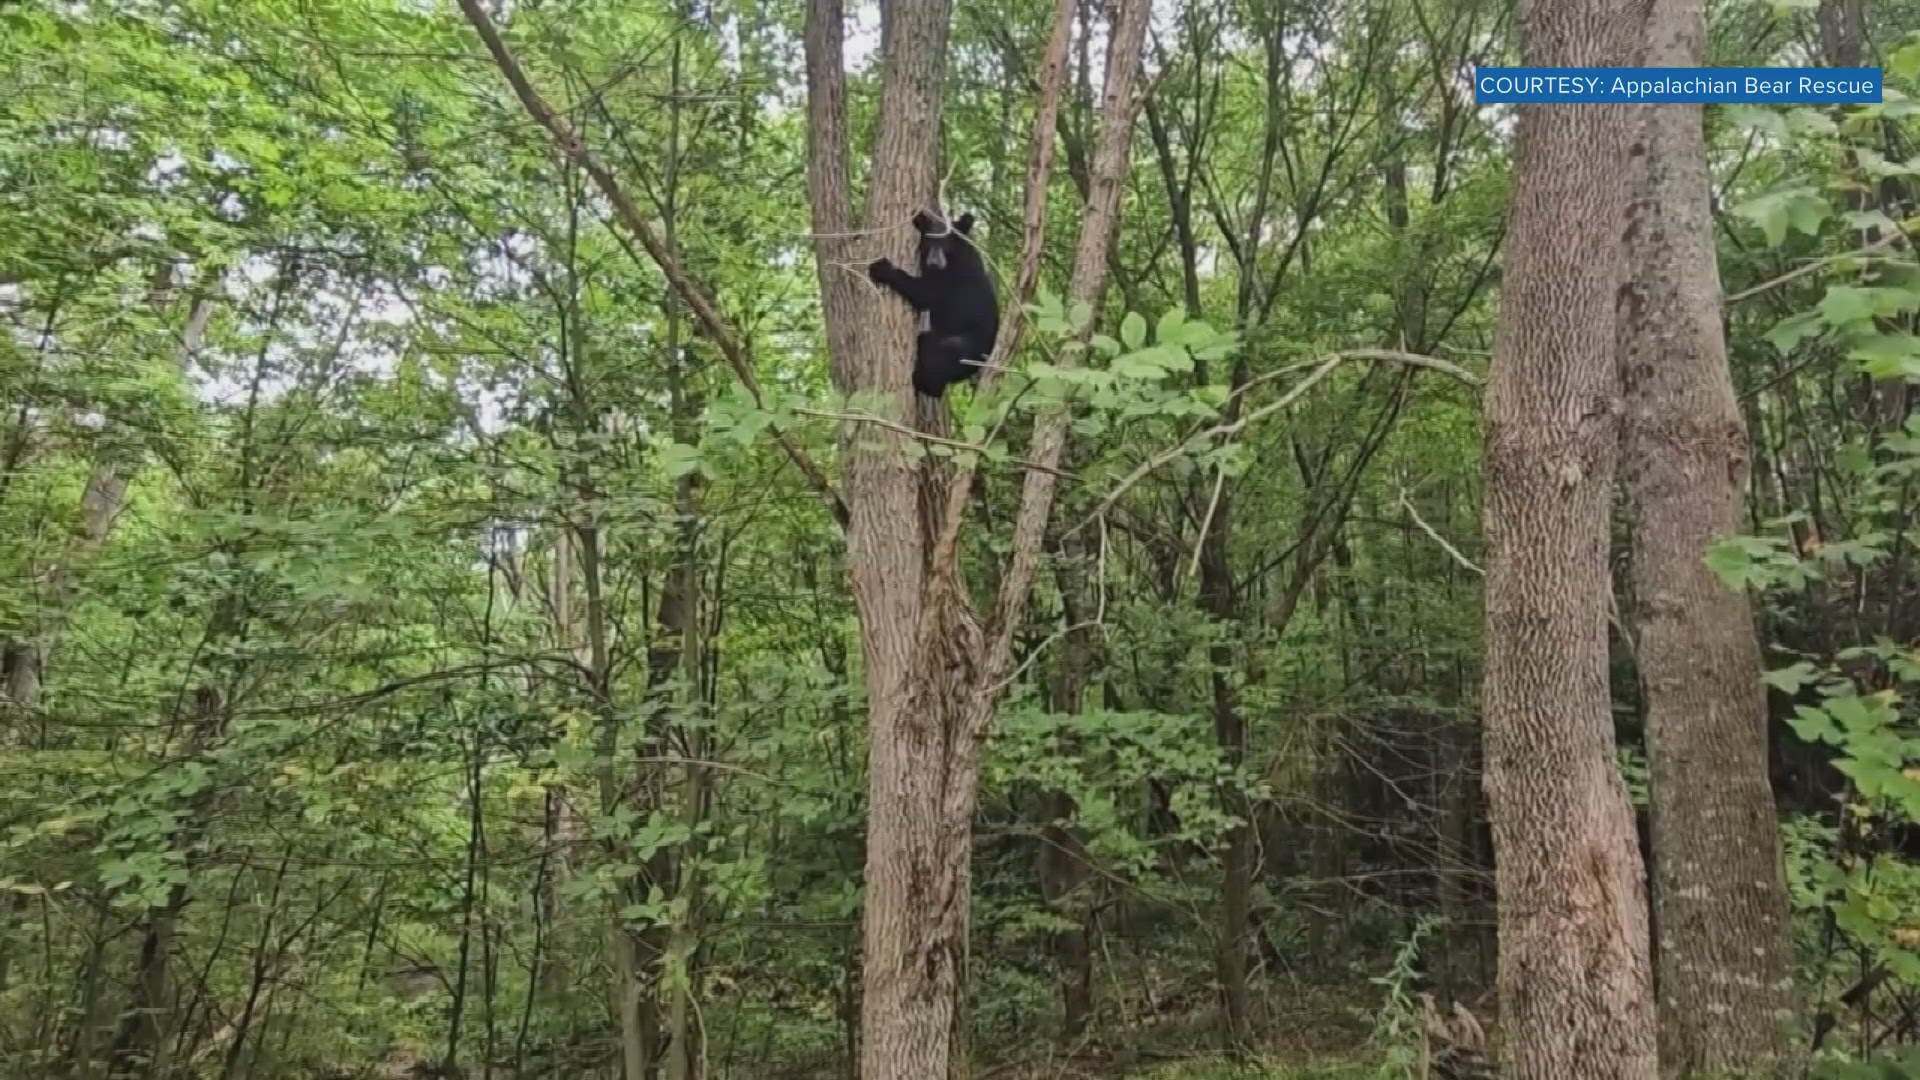
[[[891,419],[912,423],[906,357],[912,319],[899,304],[843,281],[852,265],[847,169],[843,10],[810,0],[806,17],[808,194],[814,265],[828,329],[833,384],[879,394]],[[866,229],[879,250],[912,250],[914,209],[937,188],[935,160],[947,73],[948,0],[881,6],[881,98],[870,169]],[[925,546],[920,530],[920,467],[902,432],[847,425],[841,471],[847,492],[847,565],[868,690],[868,842],[860,1074],[925,1080],[947,1072],[962,947],[929,917],[945,874],[939,851],[945,717],[916,694],[914,628],[920,626]]]

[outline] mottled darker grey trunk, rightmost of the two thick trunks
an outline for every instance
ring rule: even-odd
[[[1653,0],[1645,63],[1693,67],[1703,0]],[[1788,1049],[1791,944],[1753,613],[1707,567],[1741,528],[1747,430],[1720,329],[1699,106],[1642,106],[1620,294],[1634,653],[1647,707],[1661,1063],[1766,1070]]]

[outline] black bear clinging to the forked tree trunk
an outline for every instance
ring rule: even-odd
[[[972,213],[943,227],[922,209],[914,229],[920,231],[920,277],[891,259],[874,259],[866,277],[897,292],[914,311],[927,313],[927,329],[914,348],[914,390],[939,398],[954,382],[979,377],[979,363],[993,354],[993,338],[1000,332],[1000,302],[970,238]]]

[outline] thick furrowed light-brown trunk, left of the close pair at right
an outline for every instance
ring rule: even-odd
[[[1632,0],[1523,8],[1524,61],[1626,63]],[[1486,417],[1486,796],[1505,1074],[1657,1072],[1640,846],[1607,694],[1628,106],[1519,106]]]

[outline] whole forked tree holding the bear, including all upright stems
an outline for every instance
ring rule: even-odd
[[[910,219],[937,194],[941,81],[948,0],[881,0],[881,94],[866,209],[851,206],[839,0],[810,0],[806,15],[808,188],[814,259],[833,382],[879,394],[893,421],[916,417],[908,382],[912,325],[904,307],[851,273],[874,256],[912,250]],[[1027,163],[1021,263],[1006,304],[995,363],[1021,334],[1044,231],[1054,115],[1073,4],[1054,12]],[[1071,300],[1098,309],[1108,246],[1133,135],[1135,75],[1146,37],[1144,0],[1110,6],[1108,63]],[[1083,332],[1091,332],[1087,327]],[[981,390],[996,384],[987,371]],[[989,619],[975,619],[958,567],[972,467],[925,471],[893,427],[849,425],[841,473],[849,507],[847,561],[868,678],[868,832],[860,1007],[860,1076],[927,1080],[948,1074],[954,1005],[966,980],[968,865],[979,748],[1014,667],[1052,513],[1068,434],[1064,411],[1043,413],[1027,448],[1008,567]],[[924,515],[920,507],[927,507]],[[920,525],[924,523],[924,525]]]

